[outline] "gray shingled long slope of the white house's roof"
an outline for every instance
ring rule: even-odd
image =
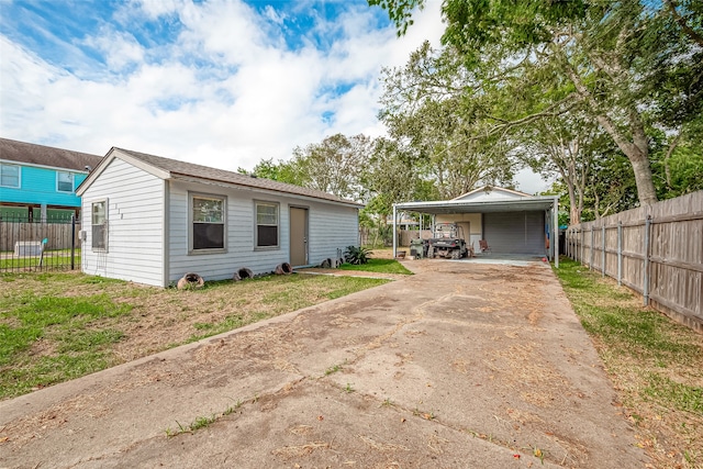
[[[239,172],[226,171],[224,169],[211,168],[209,166],[196,165],[193,163],[179,161],[177,159],[164,158],[155,155],[147,155],[145,153],[133,152],[131,149],[113,147],[112,150],[118,150],[122,154],[138,159],[149,166],[158,168],[163,171],[167,171],[172,177],[185,176],[197,179],[205,179],[210,181],[225,182],[242,187],[249,187],[256,189],[270,190],[275,192],[282,192],[295,196],[304,196],[314,199],[323,199],[344,204],[353,204],[356,206],[364,206],[360,203],[342,199],[337,196],[323,192],[320,190],[308,189],[300,186],[289,185],[284,182],[278,182],[270,179],[257,178]]]

